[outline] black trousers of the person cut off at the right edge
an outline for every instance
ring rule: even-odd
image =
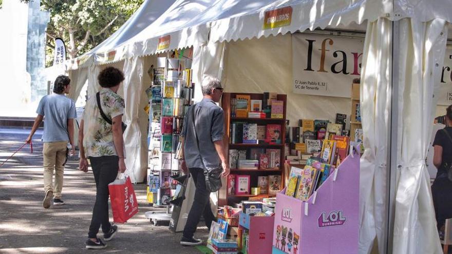
[[[431,185],[431,195],[439,230],[446,223],[446,219],[452,218],[452,182],[447,175],[437,176]]]

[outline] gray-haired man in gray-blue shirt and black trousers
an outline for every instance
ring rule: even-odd
[[[202,84],[202,94],[204,95],[202,101],[191,106],[187,111],[181,133],[182,154],[185,158],[182,161],[182,169],[190,171],[196,186],[192,208],[180,241],[182,245],[202,244],[201,240],[193,238],[201,215],[209,229],[212,221],[215,220],[210,207],[210,192],[205,188],[203,164],[208,169],[221,164],[222,177],[227,177],[230,171],[225,144],[227,140],[224,139],[224,113],[223,109],[215,104],[220,101],[223,94],[220,81],[208,77]],[[192,110],[195,110],[195,129],[192,124]],[[195,131],[198,135],[199,150]],[[187,202],[191,201],[187,200]]]

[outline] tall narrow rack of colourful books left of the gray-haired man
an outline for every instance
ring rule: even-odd
[[[152,147],[148,176],[148,203],[168,205],[175,195],[177,182],[172,177],[180,172],[180,132],[188,107],[192,104],[194,84],[190,64],[184,59],[158,57],[152,87]]]

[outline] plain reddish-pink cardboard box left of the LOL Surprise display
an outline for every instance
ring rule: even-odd
[[[248,254],[272,252],[273,216],[249,216],[240,212],[239,225],[249,230]]]

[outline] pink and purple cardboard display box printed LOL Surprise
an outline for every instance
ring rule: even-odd
[[[358,253],[359,186],[360,155],[355,153],[308,201],[286,196],[284,190],[277,193],[272,253]]]

